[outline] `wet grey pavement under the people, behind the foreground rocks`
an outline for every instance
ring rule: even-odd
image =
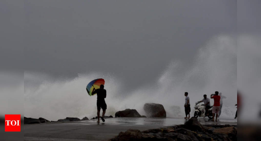
[[[237,125],[236,119],[219,119],[212,122],[207,117],[198,118],[203,125]],[[100,120],[101,121],[101,120]],[[184,124],[184,118],[106,118],[97,123],[97,119],[24,125],[24,140],[108,140],[128,129],[147,130],[159,127]]]

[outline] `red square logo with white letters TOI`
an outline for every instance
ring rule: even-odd
[[[21,115],[4,115],[4,131],[20,132],[21,131]]]

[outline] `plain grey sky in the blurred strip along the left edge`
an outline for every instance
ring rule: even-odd
[[[0,72],[15,71],[23,75],[23,14],[22,1],[0,2]]]

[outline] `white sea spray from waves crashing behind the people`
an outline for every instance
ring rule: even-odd
[[[164,106],[167,117],[179,117],[185,113],[185,91],[191,100],[191,114],[194,103],[203,99],[204,94],[210,97],[211,93],[220,91],[227,97],[223,99],[221,117],[231,117],[236,111],[234,104],[237,100],[236,53],[235,38],[224,35],[214,37],[199,49],[191,64],[182,60],[171,61],[162,74],[155,76],[157,82],[150,82],[149,86],[146,84],[127,93],[122,93],[124,88],[121,84],[128,80],[111,74],[93,72],[78,74],[71,80],[52,80],[46,74],[25,72],[24,115],[48,120],[95,117],[97,97],[87,94],[86,85],[93,79],[103,78],[107,91],[105,115],[108,116],[127,108],[145,115],[145,103],[159,103]],[[181,113],[174,114],[175,109],[171,109],[171,106],[180,106]]]

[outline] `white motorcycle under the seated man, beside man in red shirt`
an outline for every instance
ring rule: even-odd
[[[210,109],[208,110],[209,115],[207,117],[209,117],[209,119],[213,118],[213,116],[212,116],[212,107],[213,106],[210,106]],[[206,117],[206,115],[205,115],[206,110],[205,110],[205,105],[204,104],[200,104],[200,103],[197,102],[194,108],[195,108],[195,113],[194,113],[194,117],[195,118]]]

